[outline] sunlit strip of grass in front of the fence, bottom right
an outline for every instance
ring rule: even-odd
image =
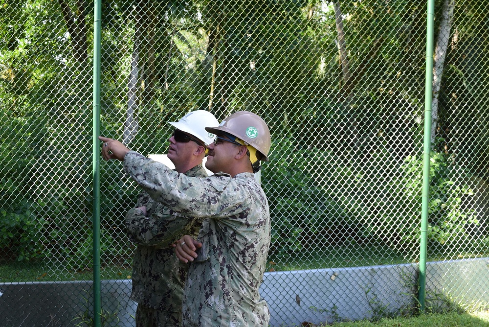
[[[307,325],[303,325],[307,326]],[[313,325],[310,325],[313,326]],[[356,322],[319,325],[323,327],[488,327],[489,311],[457,314],[422,314],[412,318],[381,319],[377,322],[366,320]]]

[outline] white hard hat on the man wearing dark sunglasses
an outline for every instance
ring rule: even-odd
[[[205,127],[217,127],[219,121],[210,112],[205,110],[196,110],[183,116],[177,122],[170,121],[174,127],[201,140],[206,146],[214,142],[216,135],[207,132]]]

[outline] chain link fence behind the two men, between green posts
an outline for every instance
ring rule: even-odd
[[[435,1],[432,311],[488,309],[488,9]],[[0,325],[90,326],[93,4],[0,0],[0,25]],[[425,49],[422,1],[103,1],[101,134],[165,154],[167,122],[189,111],[260,115],[272,325],[296,324],[277,318],[290,310],[298,324],[412,315]],[[139,191],[103,162],[100,192],[104,292],[127,293],[124,217]],[[102,321],[133,326],[127,296],[113,299]]]

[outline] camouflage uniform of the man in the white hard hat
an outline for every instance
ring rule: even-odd
[[[185,175],[207,177],[202,165]],[[146,206],[148,217],[138,207]],[[136,206],[126,214],[129,238],[137,244],[133,258],[133,291],[138,303],[136,326],[180,326],[183,285],[187,269],[179,264],[169,245],[185,234],[195,235],[200,228],[195,217],[177,217],[147,193],[140,195]]]

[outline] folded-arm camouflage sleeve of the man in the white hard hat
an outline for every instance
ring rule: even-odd
[[[183,235],[195,233],[196,222],[197,218],[177,217],[168,210],[156,211],[149,217],[136,208],[126,214],[126,230],[131,241],[158,248],[166,248]]]

